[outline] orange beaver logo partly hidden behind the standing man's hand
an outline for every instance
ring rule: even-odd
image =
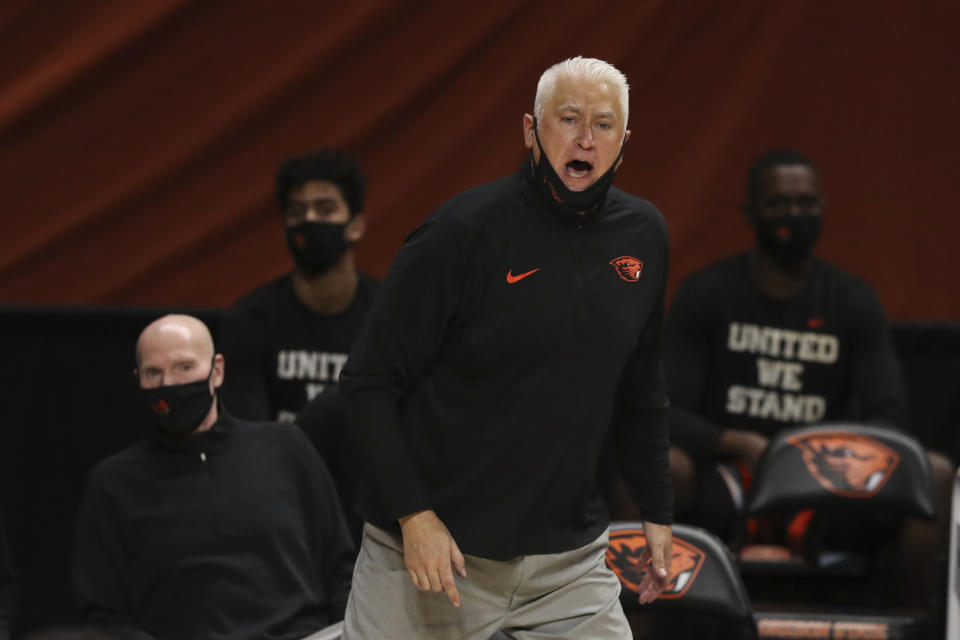
[[[647,572],[642,554],[647,548],[643,529],[622,529],[610,533],[607,548],[607,566],[617,574],[620,583],[635,593],[640,593],[640,583]],[[673,537],[673,560],[670,562],[670,584],[661,598],[679,598],[687,592],[696,579],[706,554],[695,546]]]

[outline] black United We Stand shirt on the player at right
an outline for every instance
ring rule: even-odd
[[[840,419],[905,426],[903,383],[873,289],[815,259],[801,291],[771,298],[748,260],[721,260],[677,291],[664,353],[674,441],[703,451],[725,428],[771,436]]]

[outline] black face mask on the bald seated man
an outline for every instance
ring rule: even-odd
[[[203,380],[152,389],[140,388],[140,397],[160,434],[171,440],[184,440],[196,431],[210,412],[213,394],[210,375]]]

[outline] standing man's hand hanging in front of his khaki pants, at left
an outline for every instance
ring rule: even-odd
[[[433,510],[418,511],[399,520],[403,532],[403,564],[410,581],[420,591],[445,591],[455,607],[460,593],[453,580],[453,569],[467,577],[463,554],[447,526]]]

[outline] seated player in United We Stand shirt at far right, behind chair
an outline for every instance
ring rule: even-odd
[[[727,540],[740,519],[743,488],[777,432],[839,420],[909,428],[880,299],[862,279],[814,256],[824,210],[820,171],[808,158],[790,149],[759,156],[743,204],[753,249],[688,277],[667,319],[678,517]],[[951,464],[937,453],[930,461],[945,522]],[[817,527],[826,537],[820,542],[877,547],[897,535],[896,523],[848,515],[831,514]],[[772,528],[759,541],[786,543],[807,531],[799,522],[767,522]],[[902,557],[920,557],[921,548],[938,544],[935,525],[909,520],[904,530]],[[906,569],[904,584],[920,585],[913,594],[930,592],[934,558],[930,553]]]

